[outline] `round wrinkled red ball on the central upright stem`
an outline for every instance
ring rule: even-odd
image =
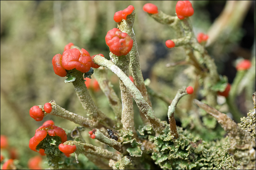
[[[106,34],[105,40],[110,51],[117,56],[127,55],[131,51],[133,45],[131,37],[117,28],[110,30]]]

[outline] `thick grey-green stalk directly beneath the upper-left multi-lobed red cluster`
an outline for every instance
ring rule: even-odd
[[[93,119],[95,122],[101,122],[102,124],[106,124],[110,127],[114,126],[114,121],[107,117],[100,109],[96,106],[95,102],[90,96],[88,89],[84,84],[83,73],[77,70],[69,71],[70,75],[75,77],[75,81],[73,81],[73,86],[76,92],[76,95],[82,104],[83,108],[87,112],[89,118]]]

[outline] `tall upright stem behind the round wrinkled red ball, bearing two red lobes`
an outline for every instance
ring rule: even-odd
[[[144,84],[143,75],[141,72],[139,51],[138,51],[138,46],[136,42],[136,37],[133,32],[134,18],[135,18],[135,11],[133,11],[130,15],[128,15],[126,20],[122,20],[122,22],[118,23],[118,29],[122,32],[127,33],[133,40],[133,46],[130,51],[130,68],[131,68],[131,73],[133,77],[133,82],[135,86],[140,90],[146,102],[152,107],[150,98],[147,94],[146,86]],[[140,117],[144,124],[148,123],[148,120],[145,118],[144,114],[141,111],[140,111]]]

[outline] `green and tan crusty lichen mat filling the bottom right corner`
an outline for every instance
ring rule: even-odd
[[[255,95],[253,101],[253,110],[241,118],[240,126],[225,114],[217,113],[218,119],[223,119],[217,119],[218,122],[229,135],[219,140],[205,141],[180,127],[180,137],[173,139],[168,123],[159,136],[149,125],[139,128],[138,134],[154,143],[151,158],[162,169],[255,169]],[[228,124],[234,128],[227,128]]]

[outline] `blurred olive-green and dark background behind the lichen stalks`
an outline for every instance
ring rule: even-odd
[[[28,148],[29,139],[46,120],[52,119],[61,128],[72,130],[76,124],[47,115],[36,122],[29,116],[33,105],[55,100],[70,112],[85,116],[76,97],[73,85],[64,83],[53,71],[52,58],[62,53],[68,43],[86,49],[90,55],[102,53],[109,59],[109,47],[105,44],[106,33],[117,27],[113,20],[115,12],[133,5],[136,11],[134,33],[139,48],[144,79],[150,79],[149,87],[156,93],[172,99],[177,89],[189,86],[193,77],[188,65],[166,67],[166,64],[185,60],[182,47],[168,49],[165,41],[175,38],[175,33],[166,25],[156,22],[142,10],[145,3],[153,3],[169,15],[175,15],[177,1],[0,1],[0,45],[1,45],[1,135],[8,136],[9,145],[16,149],[20,164],[38,153]],[[231,23],[215,23],[222,14],[226,1],[191,1],[194,15],[190,17],[195,35],[209,33],[214,37],[207,47],[214,58],[219,74],[226,75],[229,83],[236,76],[236,62],[239,59],[253,61],[255,68],[255,1],[244,6],[233,7],[240,15]],[[240,9],[240,10],[238,10]],[[237,11],[236,11],[237,10]],[[222,14],[223,15],[223,14]],[[221,27],[215,35],[213,26]],[[216,33],[217,29],[215,30]],[[255,75],[255,70],[254,73]],[[93,76],[92,76],[93,77]],[[119,80],[109,72],[109,78],[119,95]],[[245,89],[245,87],[244,87]],[[239,109],[246,116],[252,109],[252,93],[255,78],[247,91],[241,89]],[[101,90],[90,90],[96,104],[104,113],[113,112]],[[184,99],[185,100],[185,99]],[[153,99],[153,109],[158,118],[165,120],[168,105],[160,99]],[[134,106],[139,118],[138,108]],[[136,126],[140,124],[140,118]],[[88,132],[87,132],[88,133]],[[88,135],[87,135],[88,136]],[[88,139],[90,140],[90,139]],[[2,151],[1,151],[2,152]],[[1,153],[2,154],[2,153]],[[25,155],[25,156],[22,156]]]

